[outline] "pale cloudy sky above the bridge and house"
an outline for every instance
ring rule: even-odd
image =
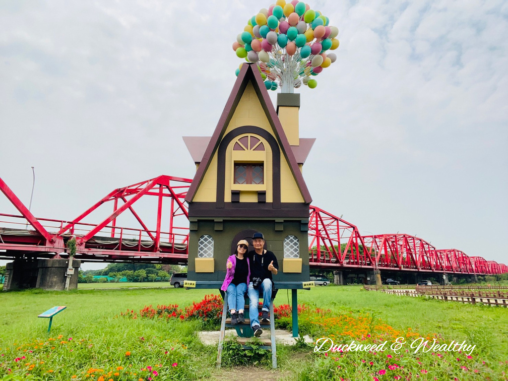
[[[242,62],[232,44],[270,4],[3,0],[0,177],[28,205],[34,167],[31,211],[55,219],[114,188],[194,177],[182,136],[211,136]],[[508,264],[508,3],[309,5],[340,40],[317,87],[296,90],[300,137],[316,138],[312,204],[363,235]]]

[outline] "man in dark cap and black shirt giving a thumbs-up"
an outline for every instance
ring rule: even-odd
[[[254,250],[248,252],[250,262],[250,282],[247,289],[249,296],[249,318],[250,326],[254,336],[259,337],[263,330],[259,322],[259,296],[263,296],[262,322],[269,322],[268,312],[272,298],[272,275],[277,275],[279,264],[274,253],[265,250],[265,237],[262,233],[255,233],[252,236]]]

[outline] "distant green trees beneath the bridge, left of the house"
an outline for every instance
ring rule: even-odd
[[[105,269],[79,271],[79,283],[105,282],[167,282],[175,272],[186,272],[179,265],[143,263],[110,263]]]

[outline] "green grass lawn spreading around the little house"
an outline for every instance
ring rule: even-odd
[[[99,287],[104,285],[92,284]],[[216,294],[217,291],[140,287],[2,293],[0,355],[4,356],[0,358],[0,379],[35,377],[31,379],[69,380],[76,376],[74,379],[78,380],[100,380],[99,374],[107,375],[105,380],[114,381],[148,379],[148,376],[154,380],[210,377],[221,379],[221,375],[226,374],[224,372],[227,370],[214,369],[216,347],[205,346],[197,339],[196,331],[201,328],[202,322],[180,319],[127,319],[119,316],[120,312],[128,309],[139,312],[145,305],[150,304],[154,307],[158,304],[178,304],[185,307],[193,301],[201,301],[206,294],[211,293]],[[311,327],[309,332],[322,332],[312,330],[319,326],[320,319],[328,316],[355,317],[368,314],[373,321],[380,319],[397,331],[406,332],[411,328],[422,336],[438,336],[447,342],[466,340],[477,345],[474,356],[478,357],[478,363],[481,364],[482,359],[487,363],[484,366],[489,366],[488,372],[475,374],[472,367],[467,372],[461,370],[462,363],[457,362],[435,374],[456,372],[460,375],[460,380],[489,379],[488,377],[497,380],[504,379],[502,372],[508,371],[506,363],[503,363],[508,359],[508,310],[505,308],[399,297],[364,291],[360,286],[316,287],[310,291],[299,291],[298,297],[300,304],[329,310],[320,315],[321,317],[316,315],[313,322],[315,327]],[[291,300],[291,293],[280,290],[275,305],[288,304],[288,300]],[[57,305],[65,305],[67,309],[54,317],[52,330],[48,335],[48,319],[40,319],[37,315]],[[48,340],[49,338],[55,340]],[[368,354],[362,356],[369,360]],[[430,356],[421,355],[424,359],[422,361],[426,361],[429,366],[432,365],[428,360]],[[20,360],[15,361],[18,358]],[[332,369],[330,362],[325,360],[316,358],[312,354],[312,348],[296,350],[279,346],[279,370],[274,374],[283,375],[285,379],[334,379],[338,373],[333,372],[337,372],[336,364],[340,362],[332,364]],[[402,364],[406,360],[407,358],[398,361]],[[474,361],[476,360],[475,357]],[[393,379],[393,376],[383,378],[378,373],[373,375],[367,368],[362,373],[362,366],[365,366],[361,362],[363,358],[350,356],[350,359],[340,361],[343,365],[340,376],[344,379],[372,380],[373,376],[377,376],[379,380]],[[406,369],[409,366],[418,366],[415,365],[417,361],[416,357],[411,359],[406,364]],[[359,365],[356,365],[357,362]],[[366,362],[368,363],[369,361]],[[269,361],[266,364],[269,364]],[[30,367],[32,369],[28,371]],[[101,369],[103,373],[89,373],[93,369]],[[316,369],[324,369],[324,373],[315,373]],[[154,371],[157,376],[154,376]],[[437,370],[418,374],[419,379],[433,379],[427,378],[434,374],[432,372]]]

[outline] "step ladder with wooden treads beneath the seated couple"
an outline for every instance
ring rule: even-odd
[[[222,294],[222,293],[221,293]],[[248,300],[248,299],[246,299]],[[261,311],[262,306],[258,304],[258,311]],[[238,334],[238,342],[242,344],[242,347],[246,350],[252,349],[248,345],[248,340],[254,337],[254,332],[252,331],[252,328],[250,327],[250,319],[245,319],[245,323],[243,324],[231,324],[231,317],[227,317],[228,315],[228,293],[226,292],[224,295],[224,307],[223,307],[223,315],[222,320],[220,322],[220,335],[219,335],[219,346],[217,351],[217,368],[220,368],[220,362],[222,358],[222,350],[224,345],[224,337],[226,334],[226,328],[235,328],[236,333]],[[249,305],[245,304],[244,316],[249,315]],[[261,322],[261,328],[264,330],[268,325],[270,325],[270,338],[260,338],[262,345],[259,347],[262,349],[270,350],[272,351],[272,368],[277,368],[277,351],[275,347],[275,322],[274,322],[274,315],[273,315],[273,298],[270,301],[270,323],[268,322]]]

